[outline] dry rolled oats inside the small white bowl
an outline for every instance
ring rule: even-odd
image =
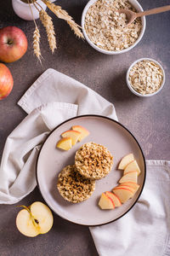
[[[154,61],[139,61],[130,70],[129,83],[140,94],[152,94],[161,87],[163,73]]]

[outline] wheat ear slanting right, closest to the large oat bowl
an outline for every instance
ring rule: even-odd
[[[77,25],[77,23],[64,9],[61,9],[59,5],[55,5],[48,0],[42,0],[42,2],[45,3],[48,6],[48,9],[50,9],[59,19],[65,20],[69,26],[71,26],[71,29],[75,32],[78,38],[84,39],[84,36],[80,30],[81,26]]]

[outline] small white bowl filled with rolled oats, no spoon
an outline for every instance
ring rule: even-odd
[[[161,64],[150,58],[134,61],[127,70],[128,88],[136,96],[156,95],[165,84],[165,72]]]

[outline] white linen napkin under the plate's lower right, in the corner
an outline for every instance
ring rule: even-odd
[[[144,190],[130,212],[90,228],[100,256],[170,255],[170,162],[147,160],[146,166]]]

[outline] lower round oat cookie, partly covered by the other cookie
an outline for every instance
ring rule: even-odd
[[[75,166],[65,166],[59,173],[57,188],[66,201],[77,203],[87,200],[93,194],[95,181],[82,177]]]

